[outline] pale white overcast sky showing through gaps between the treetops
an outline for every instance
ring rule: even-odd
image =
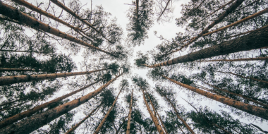
[[[87,6],[84,6],[84,8],[90,8],[90,1],[89,0],[80,0],[80,1],[82,4],[87,4]],[[159,38],[157,38],[154,35],[154,31],[157,31],[157,36],[162,35],[166,39],[171,39],[171,38],[175,37],[177,32],[183,32],[183,29],[179,28],[176,25],[175,18],[179,18],[181,16],[181,13],[180,13],[181,12],[181,4],[186,4],[186,3],[188,3],[188,1],[190,1],[190,0],[187,0],[187,1],[181,0],[181,1],[176,1],[173,3],[174,11],[173,11],[173,19],[171,20],[171,22],[159,24],[159,23],[154,21],[154,25],[148,31],[149,38],[145,39],[144,44],[141,44],[140,46],[137,46],[134,48],[134,50],[133,50],[134,57],[132,57],[132,59],[130,59],[130,62],[132,64],[134,62],[135,55],[136,55],[137,51],[142,51],[143,53],[146,53],[146,51],[153,49],[154,47],[157,46],[157,44],[160,44],[162,42]],[[131,3],[132,3],[131,0],[112,0],[112,1],[111,0],[98,0],[98,1],[92,0],[92,7],[102,5],[104,8],[104,11],[111,13],[112,18],[114,18],[114,17],[117,18],[118,25],[120,25],[121,28],[123,28],[123,32],[124,32],[123,38],[126,38],[126,35],[127,35],[126,25],[127,25],[127,23],[129,23],[128,18],[126,17],[126,14],[127,14],[128,8],[130,8],[130,6],[126,5],[126,4],[131,4]],[[183,53],[181,53],[181,55],[184,55],[184,54],[187,54],[187,51],[184,51]],[[77,56],[76,59],[74,59],[74,61],[80,61],[80,60],[81,60],[80,56]],[[142,78],[146,78],[149,81],[151,87],[154,87],[154,85],[156,84],[152,80],[147,78],[146,74],[147,74],[148,69],[133,68],[132,71],[133,71],[133,74],[138,74],[138,75],[142,76]],[[116,83],[114,83],[114,86],[118,85],[119,82],[120,82],[120,79],[116,80]],[[57,96],[61,96],[63,94],[63,92],[59,92],[59,94]],[[178,90],[177,99],[180,100],[179,104],[184,105],[186,109],[192,109],[186,102],[184,102],[180,98],[180,97],[184,97],[186,99],[184,92],[186,92],[186,90]],[[138,93],[138,95],[141,95],[141,94]],[[166,107],[166,104],[163,101],[163,99],[161,99],[159,96],[157,96],[157,98],[159,99],[160,104],[163,105],[163,111],[161,112],[161,114],[164,114],[164,110],[167,110],[169,108]],[[122,100],[119,100],[118,102],[122,102]],[[221,109],[219,107],[219,104],[221,104],[221,103],[210,100],[210,99],[206,99],[202,102],[199,102],[199,104],[202,106],[208,105],[214,111],[219,111],[219,109]],[[142,109],[144,114],[147,117],[149,117],[149,114],[147,113],[147,110],[144,107],[142,99],[139,102],[139,105],[140,105],[140,109]],[[221,104],[221,105],[223,105],[223,104]],[[75,118],[80,118],[80,117],[82,118],[83,116],[85,116],[85,115],[80,113],[79,116],[76,116]],[[233,117],[239,118],[237,116],[233,116]],[[240,121],[243,121],[245,123],[252,123],[246,119],[241,119],[241,118],[239,118],[239,119],[240,119]],[[78,122],[78,121],[79,120],[77,120],[76,122]],[[258,126],[260,126],[260,128],[262,128],[263,130],[268,130],[268,123],[262,123],[262,124],[256,123],[256,124],[258,124]]]

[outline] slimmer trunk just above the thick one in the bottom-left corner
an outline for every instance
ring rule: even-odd
[[[91,85],[99,83],[99,81],[100,80],[98,80],[95,83],[92,83],[90,85],[87,85],[87,86],[85,86],[83,88],[80,88],[79,90],[75,90],[75,91],[73,91],[71,93],[68,93],[67,95],[63,95],[62,97],[59,97],[59,98],[53,99],[53,100],[51,100],[49,102],[46,102],[44,104],[41,104],[39,106],[35,106],[34,108],[28,109],[27,111],[23,111],[22,113],[16,114],[15,116],[11,116],[9,118],[6,118],[4,121],[0,122],[0,128],[3,128],[4,126],[8,126],[11,123],[15,123],[16,121],[19,121],[20,119],[23,119],[23,118],[25,118],[27,116],[31,116],[32,114],[35,114],[35,112],[37,112],[39,110],[42,110],[42,109],[46,108],[47,106],[50,106],[51,104],[56,104],[57,102],[59,102],[59,101],[61,101],[63,99],[66,99],[67,97],[75,95],[77,92],[85,90],[87,87],[90,87]]]

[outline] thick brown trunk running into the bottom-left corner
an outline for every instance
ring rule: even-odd
[[[122,73],[119,76],[121,76]],[[68,111],[71,111],[72,109],[75,109],[76,107],[80,106],[80,104],[84,104],[88,100],[90,100],[92,97],[95,97],[99,95],[104,88],[108,87],[116,78],[110,80],[105,85],[102,85],[102,87],[99,87],[97,90],[90,92],[89,94],[80,97],[78,99],[74,99],[71,102],[67,102],[66,104],[62,104],[61,106],[57,106],[54,109],[49,109],[47,111],[44,111],[41,114],[37,114],[35,116],[32,116],[30,118],[26,118],[23,121],[20,121],[16,124],[11,124],[9,126],[6,126],[5,128],[0,130],[0,133],[6,133],[6,134],[21,134],[21,133],[31,133],[32,131],[36,130],[37,128],[40,128],[50,121],[53,121],[55,118],[58,118],[59,116],[66,114]]]

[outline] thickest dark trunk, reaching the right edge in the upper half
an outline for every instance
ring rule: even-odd
[[[183,63],[189,61],[196,61],[198,59],[206,59],[212,56],[220,56],[224,54],[230,54],[238,51],[247,51],[251,49],[259,49],[262,47],[267,47],[268,44],[268,27],[257,32],[251,32],[243,37],[238,37],[227,42],[222,42],[221,44],[208,47],[206,49],[201,49],[193,53],[187,54],[185,56],[179,56],[175,59],[165,61],[162,63],[157,63],[152,66],[145,65],[149,68],[155,68],[160,66],[169,66],[176,63]]]

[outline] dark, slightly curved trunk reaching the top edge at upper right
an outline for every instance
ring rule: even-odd
[[[213,28],[214,25],[216,25],[217,23],[220,23],[221,20],[223,20],[226,16],[228,16],[230,13],[232,13],[234,10],[236,10],[236,8],[238,6],[240,6],[240,4],[242,4],[242,2],[245,0],[237,0],[236,2],[234,2],[231,6],[229,6],[229,8],[226,9],[226,11],[224,11],[224,13],[221,14],[221,16],[219,16],[216,20],[214,20],[213,23],[211,23],[209,26],[207,26],[207,28],[205,28],[205,30],[202,30],[202,32],[200,32],[197,37],[193,37],[190,42],[188,42],[187,44],[184,44],[183,47],[181,47],[180,49],[176,49],[174,51],[171,51],[169,54],[176,52],[176,51],[180,51],[181,49],[183,49],[184,47],[187,47],[189,44],[195,42],[197,39],[199,39],[200,37],[202,37],[202,35],[204,35],[209,29]]]

